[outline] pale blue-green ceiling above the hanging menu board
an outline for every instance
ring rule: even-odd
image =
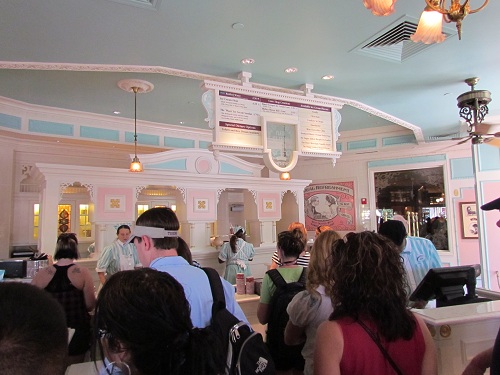
[[[400,0],[393,15],[376,17],[362,0],[2,0],[0,96],[133,117],[133,98],[117,82],[139,78],[155,89],[138,97],[138,118],[208,129],[201,80],[236,80],[244,70],[254,83],[309,83],[313,93],[382,112],[346,105],[341,132],[395,122],[427,138],[459,131],[456,97],[478,76],[476,89],[492,92],[489,116],[500,115],[498,1],[464,20],[461,41],[449,24],[454,35],[403,62],[356,51],[403,19],[417,22],[424,6]]]

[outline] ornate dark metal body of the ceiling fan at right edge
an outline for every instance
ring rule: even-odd
[[[472,132],[475,127],[483,122],[488,114],[488,103],[491,102],[491,93],[488,90],[475,90],[479,78],[467,78],[465,83],[471,88],[457,97],[457,106],[460,117],[468,124],[468,131]]]

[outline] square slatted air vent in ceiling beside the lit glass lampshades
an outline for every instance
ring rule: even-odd
[[[403,16],[380,33],[364,41],[351,52],[360,53],[392,62],[403,62],[413,55],[434,46],[434,44],[414,43],[410,36],[417,30],[418,20]],[[457,32],[454,29],[443,27],[443,34],[448,39]]]

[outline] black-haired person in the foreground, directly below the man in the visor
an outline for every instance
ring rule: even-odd
[[[193,327],[184,289],[166,272],[113,275],[99,294],[94,328],[106,358],[101,374],[224,373],[222,344],[211,330]]]

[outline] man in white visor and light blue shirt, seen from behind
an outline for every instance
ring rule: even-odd
[[[179,220],[167,207],[151,208],[141,214],[130,235],[144,267],[168,272],[183,286],[191,305],[193,325],[204,328],[212,317],[212,292],[208,277],[202,269],[191,266],[177,254]],[[238,319],[248,322],[236,302],[234,287],[222,280],[226,308]]]

